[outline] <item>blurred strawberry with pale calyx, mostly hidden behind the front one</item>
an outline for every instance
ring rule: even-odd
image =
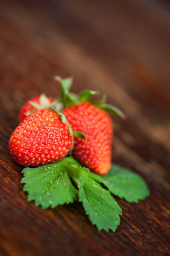
[[[54,100],[51,98],[47,98],[44,94],[41,94],[40,97],[34,97],[30,99],[29,101],[26,101],[24,105],[22,106],[20,113],[18,115],[19,122],[21,123],[24,121],[24,119],[30,115],[32,112],[34,112],[37,109],[44,109],[49,108],[51,103],[53,103]]]

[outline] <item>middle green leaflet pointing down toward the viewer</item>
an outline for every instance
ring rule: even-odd
[[[83,203],[92,224],[96,225],[98,230],[115,231],[120,224],[119,214],[122,210],[110,192],[88,177],[88,169],[69,167],[69,170],[79,188],[79,201]]]

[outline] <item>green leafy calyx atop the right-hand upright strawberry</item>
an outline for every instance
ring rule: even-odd
[[[61,86],[60,97],[57,100],[57,102],[61,104],[60,111],[69,106],[75,106],[79,103],[90,101],[91,98],[99,94],[98,91],[92,90],[83,90],[79,94],[75,94],[69,92],[71,85],[73,83],[72,77],[62,79],[60,76],[54,76],[54,79],[58,81]],[[106,104],[106,95],[104,95],[101,100],[91,101],[91,103],[98,108],[102,108],[108,113],[115,114],[121,118],[125,118],[125,115],[123,112],[121,112],[121,110],[110,104]]]

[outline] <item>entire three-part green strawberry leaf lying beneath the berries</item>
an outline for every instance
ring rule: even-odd
[[[22,172],[24,191],[28,192],[29,200],[35,200],[35,205],[43,209],[53,208],[73,202],[79,196],[86,214],[98,230],[115,231],[120,223],[122,210],[110,192],[128,202],[137,202],[149,195],[148,187],[139,175],[115,164],[107,175],[101,176],[83,167],[73,157],[65,157],[54,164],[26,167]]]

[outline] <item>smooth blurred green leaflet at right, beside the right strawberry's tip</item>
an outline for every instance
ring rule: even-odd
[[[124,198],[128,202],[138,202],[149,195],[146,182],[138,174],[115,164],[112,164],[107,175],[99,176],[91,173],[90,176],[103,183],[113,195]]]

